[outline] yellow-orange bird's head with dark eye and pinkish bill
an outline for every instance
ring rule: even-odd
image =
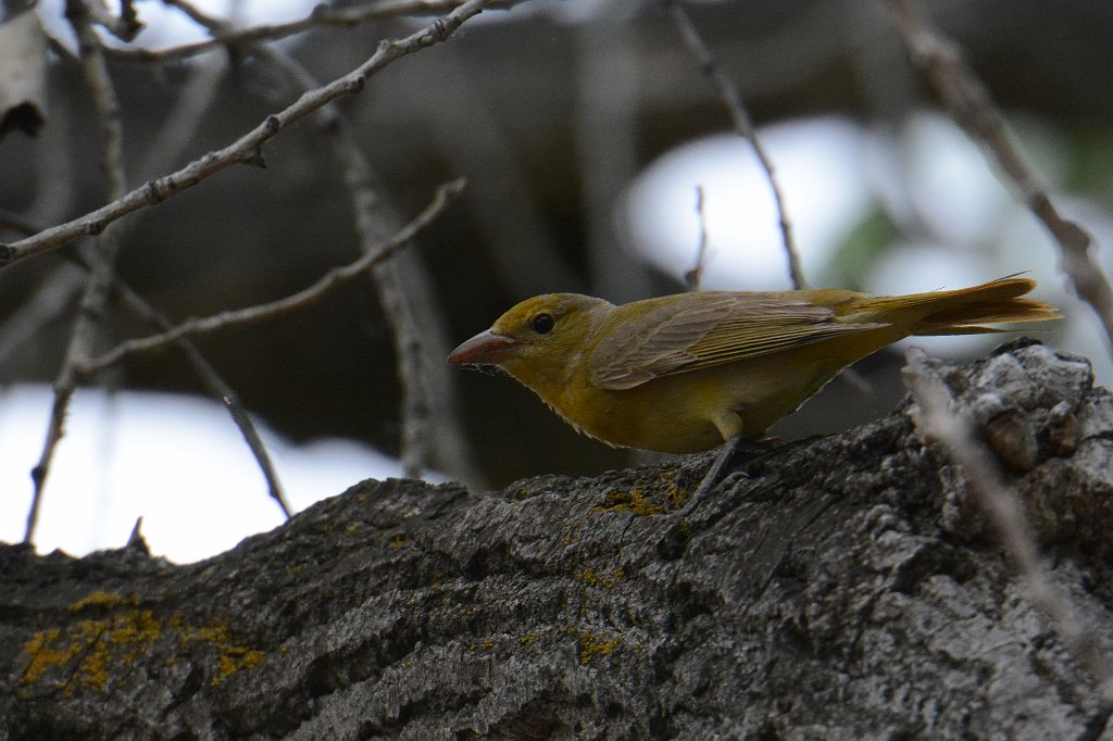
[[[501,368],[522,384],[567,376],[590,346],[599,323],[614,306],[579,294],[529,298],[452,352],[449,362],[465,367]]]

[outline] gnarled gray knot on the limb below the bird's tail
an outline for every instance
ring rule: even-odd
[[[992,452],[987,465],[996,458],[1002,483],[1016,493],[1038,541],[1107,550],[1113,487],[1103,482],[1113,396],[1094,388],[1090,363],[1031,339],[1008,343],[968,368],[919,353],[909,350],[906,375],[934,377],[946,402],[936,423],[968,427],[971,445]],[[919,402],[909,413],[928,437],[946,439],[925,424]],[[988,531],[971,483],[982,473],[952,463],[939,468],[940,525],[952,535],[976,541]]]

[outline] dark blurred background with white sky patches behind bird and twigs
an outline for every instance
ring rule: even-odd
[[[249,27],[303,18],[315,3],[196,4]],[[98,127],[61,6],[36,8],[52,42],[42,126],[35,137],[0,138],[2,241],[105,202]],[[917,6],[962,46],[1028,164],[1095,236],[1109,269],[1113,6]],[[117,47],[208,38],[179,9],[135,7],[146,28],[130,45],[112,40]],[[758,126],[811,286],[898,294],[1026,270],[1040,281],[1037,297],[1066,316],[1036,336],[1086,355],[1109,383],[1100,325],[1057,274],[1051,238],[940,112],[885,2],[684,8]],[[323,83],[382,39],[430,20],[317,28],[268,45]],[[303,91],[249,46],[157,61],[120,55],[109,69],[132,185],[234,141]],[[791,287],[765,172],[656,0],[534,0],[484,12],[449,42],[374,76],[338,109],[373,172],[382,234],[424,208],[440,184],[467,178],[463,198],[392,266],[404,290],[386,304],[407,306],[418,328],[431,407],[420,443],[433,481],[495,488],[649,460],[578,436],[511,379],[451,368],[444,357],[535,294],[621,303],[683,290],[700,238],[697,187],[709,246],[702,287]],[[120,277],[180,320],[280,298],[355,259],[352,196],[331,132],[304,119],[263,155],[265,169],[233,167],[128,217]],[[22,537],[29,472],[81,286],[82,273],[60,253],[0,270],[0,540]],[[197,339],[262,425],[295,510],[403,472],[406,370],[383,298],[368,277],[298,313]],[[149,333],[114,305],[100,347]],[[915,344],[963,359],[1007,337]],[[837,432],[884,414],[904,393],[902,364],[899,346],[867,358],[858,381],[837,379],[774,433]],[[36,543],[75,554],[118,546],[139,515],[151,550],[177,561],[282,522],[227,413],[175,349],[128,358],[79,392]]]

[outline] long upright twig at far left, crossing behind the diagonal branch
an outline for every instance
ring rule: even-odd
[[[101,46],[100,37],[92,29],[90,17],[82,0],[69,0],[66,6],[66,16],[73,27],[73,32],[77,34],[86,86],[89,88],[100,119],[104,137],[101,166],[104,167],[108,184],[108,197],[109,199],[120,198],[127,191],[127,180],[124,175],[124,130],[120,122],[119,101],[116,97],[116,90],[112,88],[111,78],[108,75],[108,66],[105,62],[104,47]],[[70,343],[66,350],[66,358],[62,360],[62,367],[55,379],[55,403],[50,413],[47,438],[43,443],[39,462],[31,471],[35,494],[31,498],[31,508],[27,515],[27,528],[23,532],[23,541],[28,543],[31,542],[35,535],[39,508],[42,504],[43,487],[47,483],[47,476],[50,473],[50,462],[55,449],[62,438],[62,425],[66,419],[66,412],[69,409],[69,402],[77,388],[81,366],[91,355],[97,338],[98,325],[104,315],[105,306],[108,302],[108,293],[112,285],[112,275],[119,246],[118,229],[109,228],[100,235],[92,250],[92,265],[89,271],[89,279],[86,284],[85,294],[81,296],[81,304],[77,320],[73,323]]]

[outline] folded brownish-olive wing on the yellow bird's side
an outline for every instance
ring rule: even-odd
[[[591,354],[591,381],[605,389],[632,388],[660,376],[884,326],[837,323],[835,316],[802,292],[686,294],[608,333]]]

